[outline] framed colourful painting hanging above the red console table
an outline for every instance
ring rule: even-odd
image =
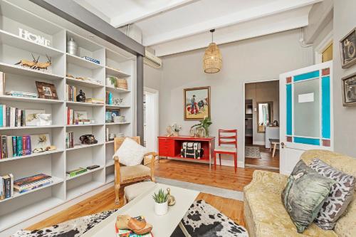
[[[210,86],[184,89],[184,120],[210,117]]]

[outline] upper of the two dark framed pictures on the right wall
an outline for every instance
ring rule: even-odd
[[[340,40],[341,66],[350,68],[356,63],[356,28]]]

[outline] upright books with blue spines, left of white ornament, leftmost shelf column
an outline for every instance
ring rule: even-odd
[[[6,136],[0,135],[0,159],[21,157],[32,153],[31,136]]]

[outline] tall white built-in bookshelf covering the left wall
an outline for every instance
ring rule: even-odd
[[[0,127],[0,135],[36,135],[50,134],[54,151],[33,153],[22,157],[0,159],[0,176],[14,174],[14,179],[21,179],[34,174],[48,174],[53,183],[33,189],[23,194],[15,193],[10,199],[0,201],[0,236],[1,231],[26,221],[38,214],[65,204],[89,191],[114,181],[112,160],[113,141],[105,140],[105,130],[126,136],[134,135],[135,115],[135,57],[112,51],[98,43],[90,41],[88,36],[61,28],[40,16],[31,14],[11,3],[0,2],[0,71],[6,73],[5,91],[18,90],[37,93],[36,81],[53,83],[56,86],[58,100],[41,98],[18,98],[0,95],[0,104],[23,109],[45,110],[51,113],[53,125]],[[19,28],[44,36],[51,41],[51,46],[41,46],[19,37]],[[78,56],[66,52],[66,41],[73,38],[78,43]],[[46,62],[51,57],[52,65],[48,70],[33,70],[15,65],[20,59],[31,60],[31,53],[40,61]],[[82,58],[88,56],[100,60],[100,64]],[[70,78],[67,75],[73,75]],[[109,75],[125,78],[127,90],[114,88],[106,84]],[[93,80],[78,80],[77,77]],[[100,82],[100,83],[98,83]],[[123,105],[100,105],[86,102],[66,101],[66,84],[75,85],[83,90],[86,98],[105,100],[106,90],[114,98],[122,98]],[[90,125],[66,125],[67,110],[85,111],[95,120]],[[125,122],[105,123],[105,110],[120,110]],[[66,132],[73,132],[75,144],[80,143],[81,135],[93,134],[97,144],[75,145],[66,148]],[[100,167],[88,170],[75,177],[68,177],[66,171],[78,167]],[[26,167],[26,168],[24,168]]]

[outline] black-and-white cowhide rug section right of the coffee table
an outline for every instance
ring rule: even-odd
[[[248,237],[246,228],[234,223],[203,200],[194,201],[182,223],[192,237]],[[183,236],[182,230],[177,227],[171,237]]]

